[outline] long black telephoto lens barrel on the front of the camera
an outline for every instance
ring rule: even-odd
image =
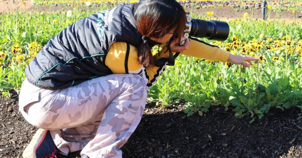
[[[228,39],[230,27],[228,23],[221,21],[205,21],[192,19],[190,36],[198,38],[207,38],[209,40],[224,41]]]

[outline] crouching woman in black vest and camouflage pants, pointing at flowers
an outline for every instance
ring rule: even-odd
[[[94,14],[50,39],[26,68],[20,91],[20,112],[40,128],[23,156],[82,149],[83,157],[121,157],[147,89],[173,65],[171,51],[245,67],[258,60],[194,38],[179,46],[185,23],[175,0],[142,0]],[[155,45],[163,48],[153,56]]]

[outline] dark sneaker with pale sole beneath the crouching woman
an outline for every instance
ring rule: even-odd
[[[23,151],[24,158],[56,158],[56,148],[49,130],[38,129]]]

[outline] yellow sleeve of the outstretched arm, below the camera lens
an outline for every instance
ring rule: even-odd
[[[228,61],[230,53],[224,51],[218,46],[210,45],[206,42],[200,41],[195,38],[190,38],[189,49],[182,52],[183,55],[188,55],[197,58],[217,60],[221,62]]]

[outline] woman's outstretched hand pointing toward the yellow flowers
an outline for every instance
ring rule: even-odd
[[[253,64],[251,61],[258,61],[259,58],[253,58],[244,55],[233,55],[230,54],[229,59],[227,62],[233,64],[241,64],[243,67],[251,67]]]

